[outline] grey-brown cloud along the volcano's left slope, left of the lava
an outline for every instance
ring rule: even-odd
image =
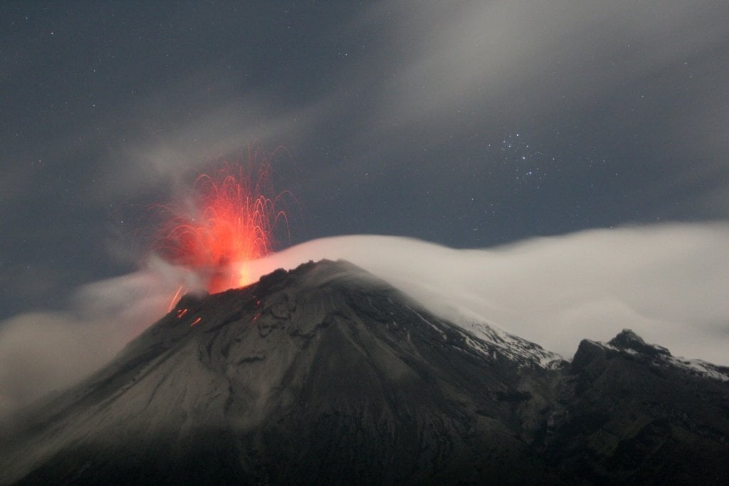
[[[152,257],[145,270],[79,287],[66,309],[0,322],[0,418],[106,364],[198,276]]]

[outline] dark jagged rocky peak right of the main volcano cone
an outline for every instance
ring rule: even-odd
[[[729,478],[729,387],[690,372],[625,329],[584,340],[548,454],[590,484],[701,484]],[[721,481],[720,481],[721,482]]]

